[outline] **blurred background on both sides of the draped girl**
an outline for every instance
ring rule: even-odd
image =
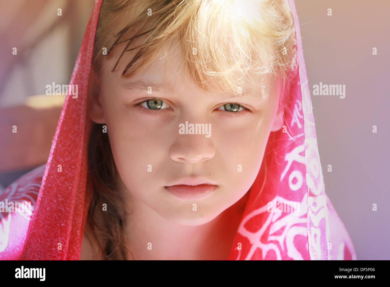
[[[320,82],[346,85],[344,99],[311,95],[326,193],[357,259],[389,260],[390,93],[385,85],[390,76],[390,2],[295,4],[311,92]],[[2,3],[0,193],[48,158],[65,97],[46,96],[46,85],[69,84],[93,6],[93,0]],[[17,55],[12,55],[13,47]],[[16,134],[10,132],[13,125]]]

